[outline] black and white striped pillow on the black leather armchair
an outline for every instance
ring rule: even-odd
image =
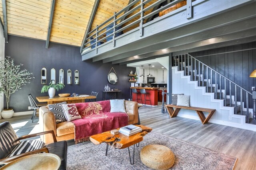
[[[21,141],[8,157],[41,149],[44,147],[44,144],[43,141],[39,140]]]

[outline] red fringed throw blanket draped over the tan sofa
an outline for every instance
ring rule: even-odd
[[[75,143],[88,141],[89,137],[128,125],[126,113],[110,113],[110,101],[76,104],[82,119],[72,122],[75,125]]]

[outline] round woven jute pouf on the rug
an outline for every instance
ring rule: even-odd
[[[147,145],[140,151],[142,163],[155,170],[167,170],[174,164],[175,156],[170,148],[162,145]]]

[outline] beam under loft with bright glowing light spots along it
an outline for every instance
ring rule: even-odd
[[[250,38],[250,37],[252,37],[252,39],[255,39],[255,36],[256,36],[255,29],[249,29],[246,31],[238,32],[238,33],[221,35],[218,37],[214,37],[214,39],[205,39],[205,40],[201,40],[201,41],[195,41],[192,43],[185,43],[183,45],[179,45],[176,47],[170,47],[165,50],[155,51],[155,53],[158,53],[160,55],[160,53],[166,54],[166,53],[176,52],[176,51],[194,52],[194,51],[191,51],[191,49],[204,47],[207,45],[211,46],[211,48],[212,48],[214,46],[214,44],[216,44],[216,43],[224,43],[224,42],[228,42],[228,41],[240,41],[240,39]],[[198,51],[198,49],[197,49],[197,51]],[[128,62],[128,61],[135,62],[138,59],[151,57],[150,55],[152,56],[152,53],[138,55],[138,56],[136,56],[136,59],[134,57],[128,57],[126,59],[120,59],[117,61],[113,61],[112,64],[118,64],[118,63],[123,63],[123,62]]]

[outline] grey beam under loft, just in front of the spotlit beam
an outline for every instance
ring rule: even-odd
[[[153,44],[152,46],[144,47],[143,49],[129,51],[126,53],[120,53],[119,55],[104,59],[103,63],[108,63],[108,62],[112,62],[112,61],[117,61],[118,63],[121,63],[120,61],[126,61],[127,57],[128,57],[128,59],[132,59],[132,57],[135,55],[143,55],[143,54],[146,54],[149,52],[154,52],[154,51],[158,51],[161,49],[168,49],[170,47],[184,45],[184,44],[200,41],[203,39],[214,38],[217,36],[230,34],[230,33],[237,33],[237,32],[240,32],[240,31],[243,31],[246,29],[254,29],[254,31],[255,31],[255,27],[256,27],[255,19],[250,18],[245,21],[232,23],[232,24],[218,27],[218,28],[215,28],[212,30],[202,31],[200,33],[195,33],[195,34],[188,35],[185,37],[177,37],[174,39],[170,39],[169,41],[166,41],[166,42],[161,42],[161,43]]]

